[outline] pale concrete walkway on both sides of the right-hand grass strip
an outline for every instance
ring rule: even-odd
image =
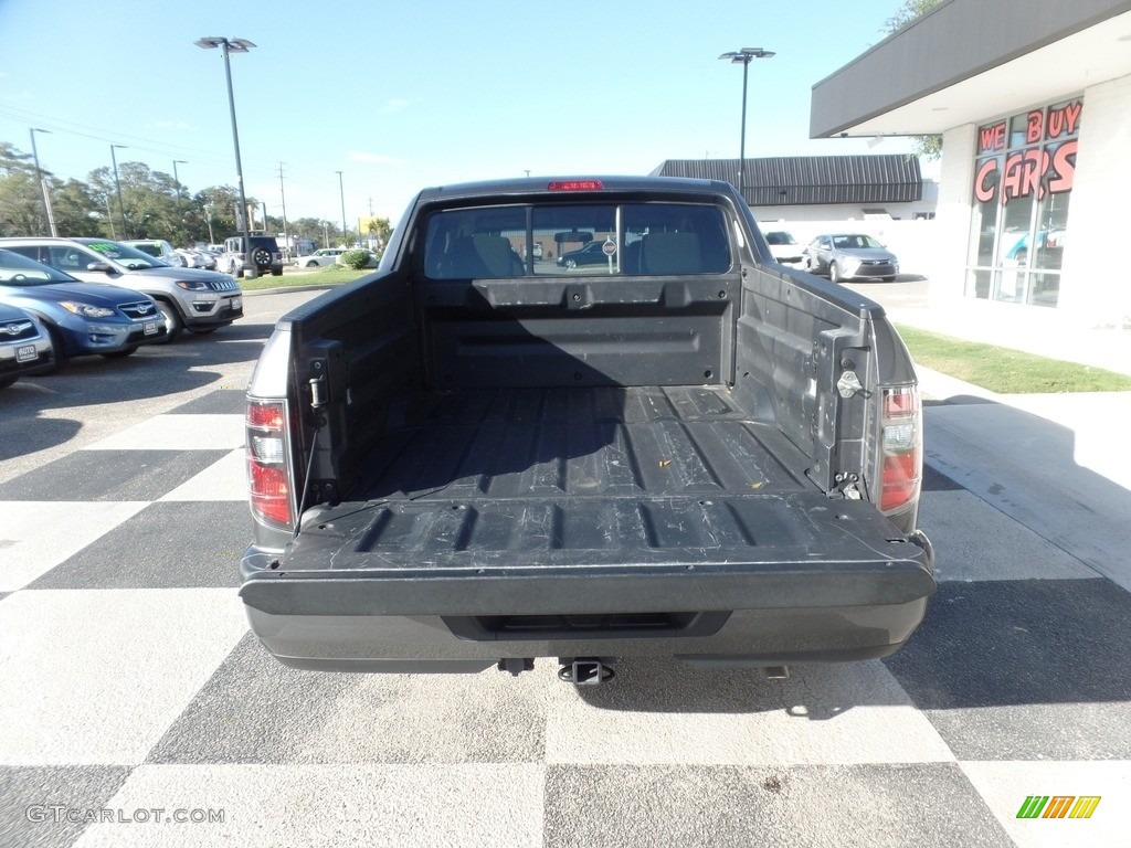
[[[1009,322],[927,308],[925,280],[853,289],[896,323],[1131,374],[1131,331],[1059,330],[1052,348]],[[927,464],[1131,591],[1131,392],[998,395],[918,374]]]

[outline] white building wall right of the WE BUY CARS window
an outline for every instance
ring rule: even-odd
[[[1131,205],[1131,76],[1083,93],[1059,309],[1073,323],[1111,327],[1131,317],[1126,237]]]

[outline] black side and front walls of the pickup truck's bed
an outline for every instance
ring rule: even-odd
[[[827,487],[838,431],[840,450],[863,451],[865,400],[840,408],[832,387],[849,353],[869,366],[870,315],[812,285],[759,267],[639,280],[379,276],[288,315],[307,365],[294,387],[307,419],[299,460],[314,430],[305,383],[321,369],[329,404],[311,479],[333,482],[330,500],[348,497],[387,430],[438,391],[722,384],[811,457]]]

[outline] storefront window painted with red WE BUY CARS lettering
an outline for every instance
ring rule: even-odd
[[[1080,99],[978,128],[966,294],[1055,306]]]

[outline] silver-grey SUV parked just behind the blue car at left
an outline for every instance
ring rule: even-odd
[[[157,302],[169,341],[182,328],[211,332],[243,317],[240,284],[227,274],[171,268],[159,259],[109,239],[0,239],[0,248],[77,277],[143,292]]]

